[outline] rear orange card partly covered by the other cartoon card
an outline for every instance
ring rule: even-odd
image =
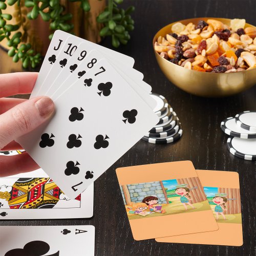
[[[157,242],[243,245],[239,175],[234,172],[197,170],[219,229],[216,231],[157,238]]]

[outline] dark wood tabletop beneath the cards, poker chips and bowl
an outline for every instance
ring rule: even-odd
[[[123,6],[131,4],[136,7],[133,14],[135,30],[129,44],[118,51],[132,56],[135,59],[134,67],[144,74],[144,80],[151,84],[153,92],[162,94],[173,106],[184,131],[181,140],[167,145],[154,145],[141,140],[134,145],[95,182],[94,217],[91,219],[1,221],[0,225],[94,225],[95,255],[99,256],[255,255],[256,161],[245,161],[229,153],[226,144],[228,136],[221,131],[220,123],[239,112],[256,110],[256,87],[236,96],[219,99],[187,94],[170,83],[160,71],[152,49],[152,39],[161,27],[190,17],[245,18],[247,23],[256,25],[256,1],[125,0]],[[111,48],[109,39],[101,44]],[[14,65],[11,58],[0,50],[0,73],[19,70],[19,65]],[[239,173],[243,246],[168,244],[157,243],[153,239],[139,242],[133,239],[115,169],[180,160],[193,161],[196,169]],[[145,230],[151,227],[145,227]],[[172,228],[172,223],[166,228]]]

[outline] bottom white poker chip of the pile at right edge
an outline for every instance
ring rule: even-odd
[[[256,139],[229,137],[227,147],[230,153],[244,160],[256,160]]]

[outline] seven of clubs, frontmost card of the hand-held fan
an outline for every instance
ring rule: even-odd
[[[52,120],[17,139],[71,199],[159,121],[107,60],[86,67],[55,100]]]

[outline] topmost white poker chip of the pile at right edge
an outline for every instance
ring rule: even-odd
[[[236,122],[241,128],[256,132],[256,111],[244,111],[237,114]]]

